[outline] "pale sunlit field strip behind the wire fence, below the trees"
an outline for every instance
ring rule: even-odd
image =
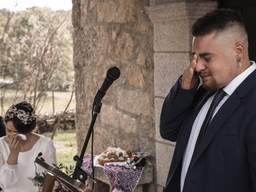
[[[4,90],[0,89],[0,92],[2,94],[4,93]],[[55,91],[54,92],[54,112],[61,112],[63,111],[71,97],[71,92],[60,92]],[[4,107],[0,110],[0,115],[4,116],[6,110],[14,103],[20,102],[24,100],[24,93],[21,90],[6,90],[4,94]],[[26,101],[30,102],[32,104],[32,96],[27,96]],[[75,95],[72,97],[72,101],[70,102],[70,106],[68,107],[68,110],[73,110],[76,108],[76,101],[75,101]],[[36,109],[36,113],[52,113],[53,112],[53,102],[52,102],[52,92],[47,92],[47,96],[45,101],[40,101],[38,104],[38,108]]]

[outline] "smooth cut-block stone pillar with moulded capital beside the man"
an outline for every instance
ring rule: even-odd
[[[217,8],[215,1],[151,0],[146,8],[154,24],[154,103],[156,117],[156,186],[162,192],[175,142],[161,138],[160,112],[164,98],[192,59],[191,27],[196,19]],[[161,4],[162,3],[162,4]]]

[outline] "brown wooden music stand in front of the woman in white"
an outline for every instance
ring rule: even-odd
[[[36,158],[35,162],[44,168],[49,174],[44,180],[44,184],[47,184],[46,187],[43,186],[42,192],[52,192],[55,179],[61,182],[72,192],[93,192],[86,185],[78,182],[65,174],[64,172],[58,170],[57,168],[48,165],[46,162],[40,158]]]

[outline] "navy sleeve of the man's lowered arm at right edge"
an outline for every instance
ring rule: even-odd
[[[252,120],[247,133],[247,154],[252,178],[253,192],[256,192],[256,116]]]

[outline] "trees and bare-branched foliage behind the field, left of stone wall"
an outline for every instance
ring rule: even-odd
[[[0,10],[0,78],[12,80],[25,100],[33,94],[37,107],[47,91],[73,84],[71,12],[32,7],[8,20],[11,14]]]

